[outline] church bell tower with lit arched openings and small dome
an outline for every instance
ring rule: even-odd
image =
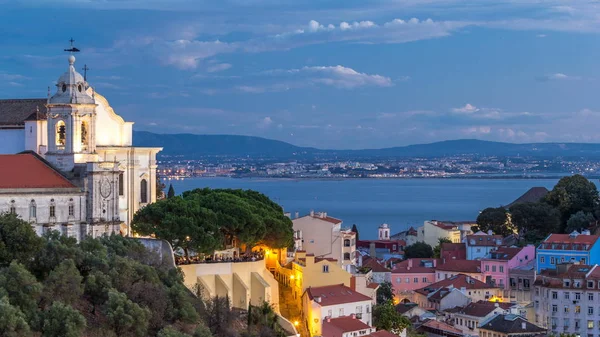
[[[95,158],[94,129],[96,102],[83,76],[75,70],[75,56],[69,55],[69,68],[56,82],[56,93],[48,98],[48,161],[62,171],[75,163]]]

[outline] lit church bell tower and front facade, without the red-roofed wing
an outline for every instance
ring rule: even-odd
[[[161,148],[133,147],[133,123],[75,70],[73,55],[68,62],[54,95],[0,100],[0,138],[10,139],[0,153],[32,151],[77,186],[86,196],[86,235],[131,234],[133,215],[156,200]]]

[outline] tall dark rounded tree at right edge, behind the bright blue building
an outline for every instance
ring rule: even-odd
[[[579,174],[560,179],[544,197],[545,202],[559,210],[563,229],[571,215],[579,211],[593,213],[598,200],[596,185]]]

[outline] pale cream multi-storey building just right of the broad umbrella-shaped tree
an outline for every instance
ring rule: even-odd
[[[333,258],[346,271],[356,265],[356,233],[342,227],[342,220],[325,212],[311,211],[292,220],[301,250],[317,258]],[[298,244],[297,244],[298,245]]]

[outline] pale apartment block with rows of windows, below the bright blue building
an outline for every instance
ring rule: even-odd
[[[535,323],[549,333],[600,336],[600,268],[559,264],[534,283]]]

